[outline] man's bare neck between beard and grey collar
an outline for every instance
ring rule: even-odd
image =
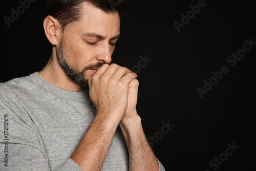
[[[79,92],[83,90],[83,86],[73,82],[64,72],[62,67],[59,65],[56,56],[56,47],[53,47],[52,55],[44,69],[38,72],[39,75],[44,78],[47,82],[54,86],[68,90],[71,92]]]

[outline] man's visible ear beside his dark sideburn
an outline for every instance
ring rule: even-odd
[[[48,15],[44,20],[44,29],[46,37],[51,42],[51,44],[57,45],[58,39],[60,39],[62,32],[58,20],[55,19],[53,16]]]

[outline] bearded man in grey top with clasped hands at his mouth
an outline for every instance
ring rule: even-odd
[[[137,74],[109,65],[123,9],[47,1],[47,66],[0,84],[1,170],[164,170],[136,111]]]

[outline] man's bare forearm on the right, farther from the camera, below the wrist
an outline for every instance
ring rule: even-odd
[[[129,151],[129,170],[159,170],[158,160],[148,144],[142,129],[141,119],[137,115],[123,124],[120,122]]]

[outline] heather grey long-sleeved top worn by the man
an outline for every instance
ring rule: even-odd
[[[69,157],[95,117],[87,89],[57,88],[38,72],[15,78],[0,83],[0,117],[0,170],[82,170]],[[118,127],[102,170],[129,170],[128,159]]]

